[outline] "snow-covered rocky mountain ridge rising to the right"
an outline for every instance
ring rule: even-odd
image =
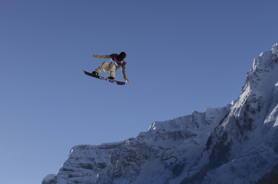
[[[278,44],[254,59],[237,100],[154,122],[122,142],[74,146],[42,184],[278,180]]]

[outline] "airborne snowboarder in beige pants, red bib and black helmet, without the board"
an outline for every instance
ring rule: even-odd
[[[102,59],[109,59],[111,58],[110,62],[103,61],[97,69],[95,69],[92,74],[99,75],[99,73],[104,70],[104,72],[109,74],[108,79],[115,79],[115,72],[117,69],[122,67],[122,74],[124,80],[128,83],[128,79],[126,78],[126,62],[123,60],[126,57],[125,52],[121,52],[119,55],[118,54],[110,54],[110,55],[104,55],[104,56],[99,56],[99,55],[93,55],[93,57],[96,58],[102,58]]]

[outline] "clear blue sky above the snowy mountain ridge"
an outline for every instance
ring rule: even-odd
[[[0,184],[37,184],[71,147],[237,99],[277,39],[277,0],[10,1],[0,5]],[[123,86],[81,72],[126,52]],[[102,76],[107,76],[102,72]],[[116,80],[124,81],[121,72]]]

